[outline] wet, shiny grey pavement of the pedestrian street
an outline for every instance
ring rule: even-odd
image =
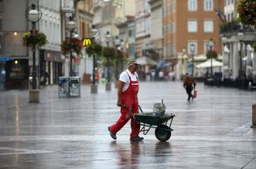
[[[256,168],[255,92],[199,83],[188,102],[181,82],[141,83],[145,112],[163,99],[176,117],[167,142],[151,129],[134,143],[130,123],[117,140],[109,136],[120,115],[113,86],[99,84],[97,94],[81,86],[80,98],[58,98],[58,86],[47,86],[38,104],[28,103],[28,90],[0,91],[0,168]]]

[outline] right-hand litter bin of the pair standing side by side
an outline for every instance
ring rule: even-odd
[[[70,77],[70,97],[80,97],[80,76]]]

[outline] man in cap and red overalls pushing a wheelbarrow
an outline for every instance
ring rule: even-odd
[[[139,137],[140,125],[131,118],[129,111],[122,105],[126,105],[131,109],[132,113],[138,113],[138,63],[136,61],[130,61],[128,63],[128,69],[121,73],[118,81],[118,106],[121,106],[121,117],[111,127],[108,127],[111,137],[116,140],[119,130],[125,126],[125,123],[131,119],[131,141],[143,140],[143,137]]]

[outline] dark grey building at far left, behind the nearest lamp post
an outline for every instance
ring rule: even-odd
[[[0,63],[5,69],[5,89],[29,88],[29,51],[22,45],[22,34],[29,30],[26,19],[28,1],[1,1],[1,32],[2,56],[9,57],[10,61]],[[13,12],[15,11],[15,12]],[[31,57],[32,58],[32,57]],[[2,79],[4,80],[4,79]]]

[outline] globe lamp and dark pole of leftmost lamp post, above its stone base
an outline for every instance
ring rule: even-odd
[[[36,22],[42,18],[42,12],[39,8],[36,8],[35,4],[32,4],[26,9],[26,19],[32,22],[32,30],[36,29]],[[33,46],[32,50],[32,89],[36,90],[36,48]]]

